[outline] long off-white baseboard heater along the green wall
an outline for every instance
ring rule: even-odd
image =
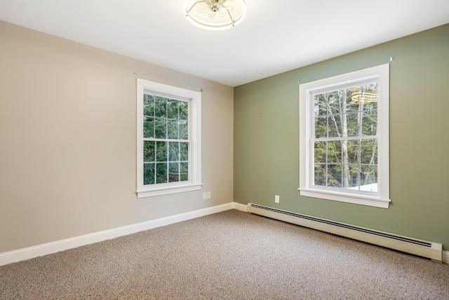
[[[259,214],[264,217],[286,221],[288,223],[309,227],[319,231],[333,233],[337,236],[344,236],[354,240],[387,247],[390,249],[415,254],[420,257],[427,257],[434,261],[440,261],[443,254],[443,245],[441,243],[429,242],[427,240],[417,240],[406,236],[397,236],[395,234],[382,231],[375,231],[350,224],[344,224],[327,219],[311,217],[306,214],[297,214],[286,210],[248,203],[248,212]]]

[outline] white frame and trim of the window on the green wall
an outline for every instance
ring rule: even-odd
[[[314,99],[312,93],[330,88],[377,81],[377,155],[378,182],[376,193],[340,191],[326,186],[314,186]],[[370,67],[347,74],[300,84],[300,191],[301,196],[336,200],[346,203],[388,208],[389,199],[389,64]]]

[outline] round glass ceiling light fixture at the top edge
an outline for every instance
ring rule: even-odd
[[[245,0],[184,0],[184,13],[198,27],[222,30],[245,18],[246,4]]]

